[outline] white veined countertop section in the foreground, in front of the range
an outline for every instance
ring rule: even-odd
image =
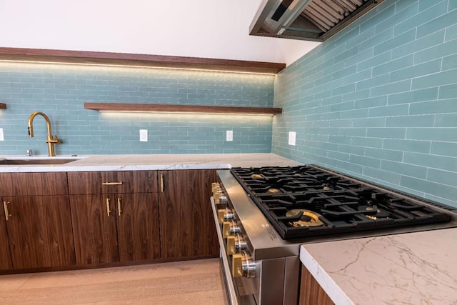
[[[457,304],[457,229],[301,246],[335,304]]]

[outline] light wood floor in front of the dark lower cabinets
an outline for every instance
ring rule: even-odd
[[[208,304],[226,297],[219,259],[0,276],[0,304]]]

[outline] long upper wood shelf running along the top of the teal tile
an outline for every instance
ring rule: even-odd
[[[261,74],[277,74],[279,71],[286,68],[286,64],[263,61],[238,61],[232,59],[205,59],[199,57],[24,48],[0,48],[0,60],[39,61],[59,64],[146,66]]]

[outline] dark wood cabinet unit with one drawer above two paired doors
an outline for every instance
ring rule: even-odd
[[[69,173],[79,265],[159,259],[156,171]]]

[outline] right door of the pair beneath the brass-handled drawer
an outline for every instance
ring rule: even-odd
[[[117,194],[120,261],[159,259],[159,202],[157,193]]]

